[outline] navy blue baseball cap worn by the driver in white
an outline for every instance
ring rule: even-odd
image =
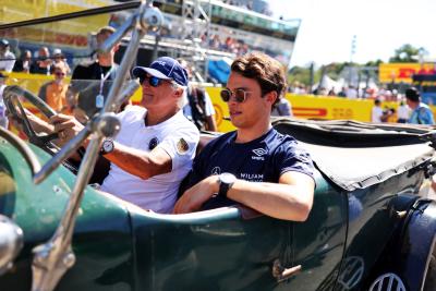
[[[160,57],[154,61],[149,68],[135,66],[132,71],[132,74],[135,77],[142,77],[146,73],[158,78],[172,80],[179,85],[187,86],[186,70],[184,70],[177,60],[170,57]]]

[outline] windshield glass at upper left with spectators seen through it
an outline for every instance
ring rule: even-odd
[[[40,97],[55,111],[74,114],[86,122],[102,107],[116,77],[114,69],[125,49],[124,41],[129,41],[128,35],[112,51],[96,53],[98,45],[133,11],[124,8],[106,7],[100,11],[49,17],[48,22],[43,19],[2,25],[0,39],[8,45],[0,61],[0,71],[4,71],[3,82],[20,85]],[[13,15],[9,19],[16,19]],[[143,64],[146,64],[145,60]],[[62,98],[53,98],[56,96]],[[101,96],[102,100],[99,99]],[[32,105],[25,104],[25,107],[38,113]]]

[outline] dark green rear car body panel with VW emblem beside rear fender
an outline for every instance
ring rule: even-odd
[[[398,195],[416,193],[423,177],[408,172],[366,190],[349,193],[349,201],[358,199],[356,207],[349,204],[347,252],[338,277],[338,290],[360,290],[377,263],[385,246],[401,223],[393,201]],[[396,192],[392,192],[392,190]],[[411,196],[410,201],[416,199]],[[353,202],[355,204],[355,202]],[[360,205],[359,205],[360,204]],[[356,209],[360,214],[355,214]],[[354,213],[354,214],[353,214]]]

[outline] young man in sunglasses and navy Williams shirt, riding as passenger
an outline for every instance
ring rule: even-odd
[[[314,166],[296,141],[270,123],[286,92],[282,65],[253,52],[231,65],[221,98],[237,131],[211,141],[194,160],[175,214],[243,204],[267,216],[303,221],[313,204]]]

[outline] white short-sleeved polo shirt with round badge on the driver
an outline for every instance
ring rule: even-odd
[[[182,110],[153,126],[146,126],[144,123],[146,112],[145,108],[132,106],[119,113],[121,131],[114,141],[147,153],[153,149],[150,145],[157,144],[157,147],[171,157],[171,172],[143,180],[111,162],[109,174],[100,190],[144,209],[170,213],[175,204],[180,182],[192,168],[199,132],[183,116]]]

